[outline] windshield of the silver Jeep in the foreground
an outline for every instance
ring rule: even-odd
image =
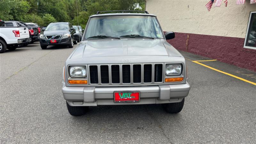
[[[112,37],[140,35],[164,38],[156,17],[153,16],[103,16],[91,18],[85,39],[102,35]]]

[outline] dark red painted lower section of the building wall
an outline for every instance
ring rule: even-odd
[[[244,38],[175,33],[175,38],[167,42],[177,50],[256,72],[256,50],[244,48]]]

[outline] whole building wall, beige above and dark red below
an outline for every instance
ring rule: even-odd
[[[146,0],[146,10],[155,14],[164,31],[174,31],[168,42],[176,49],[256,71],[256,50],[243,48],[249,15],[256,4],[236,5],[224,0],[220,7],[209,0]]]

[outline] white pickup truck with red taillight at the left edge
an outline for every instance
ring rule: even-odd
[[[29,31],[27,27],[10,27],[0,20],[0,53],[15,50],[19,44],[28,43]]]

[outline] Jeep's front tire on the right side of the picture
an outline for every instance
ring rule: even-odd
[[[181,102],[163,104],[164,110],[168,113],[179,113],[184,105],[185,98]]]

